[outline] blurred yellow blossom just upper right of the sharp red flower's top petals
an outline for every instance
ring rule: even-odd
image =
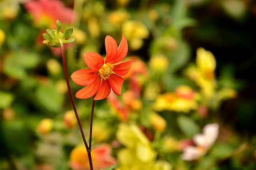
[[[140,49],[143,45],[143,39],[149,35],[148,28],[141,21],[128,20],[122,24],[122,33],[130,42],[130,48]]]

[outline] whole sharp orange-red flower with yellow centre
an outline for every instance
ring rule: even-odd
[[[124,36],[120,45],[111,36],[105,38],[106,58],[95,52],[84,53],[84,62],[90,69],[75,71],[71,78],[80,85],[86,86],[76,93],[76,97],[86,99],[94,96],[94,100],[102,100],[112,91],[116,95],[121,94],[124,79],[121,76],[127,74],[132,66],[132,61],[119,63],[126,57],[128,43]]]

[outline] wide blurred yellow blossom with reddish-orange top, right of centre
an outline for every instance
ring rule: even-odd
[[[154,109],[156,111],[173,110],[188,113],[198,108],[199,95],[189,86],[178,86],[175,92],[161,94],[156,98]]]

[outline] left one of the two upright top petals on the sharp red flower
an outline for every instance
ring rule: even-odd
[[[116,58],[116,53],[117,53],[116,40],[113,37],[107,35],[105,38],[105,47],[106,47],[105,63],[110,63]]]

